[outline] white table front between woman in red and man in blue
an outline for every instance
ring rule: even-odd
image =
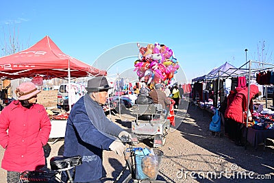
[[[51,120],[49,138],[62,138],[66,132],[66,120]]]

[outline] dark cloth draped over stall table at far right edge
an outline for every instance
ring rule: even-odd
[[[260,143],[266,143],[266,138],[274,139],[274,130],[255,130],[252,127],[247,128],[247,142],[249,142],[255,149]]]

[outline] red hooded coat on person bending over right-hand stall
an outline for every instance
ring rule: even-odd
[[[250,99],[259,92],[256,85],[251,85],[249,90]],[[247,112],[247,96],[248,87],[236,93],[234,99],[229,104],[227,101],[227,109],[225,110],[225,118],[233,119],[238,123],[245,123],[243,120],[243,112]]]

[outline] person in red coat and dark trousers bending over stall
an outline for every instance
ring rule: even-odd
[[[249,90],[249,103],[251,103],[252,110],[252,100],[259,93],[258,86],[255,84],[250,85]],[[247,108],[248,99],[248,87],[247,88],[236,88],[236,93],[227,97],[227,109],[225,110],[225,118],[227,119],[231,130],[229,136],[235,141],[236,145],[242,144],[242,128],[245,125],[247,119],[246,114],[249,117],[249,121],[252,119],[251,112]]]

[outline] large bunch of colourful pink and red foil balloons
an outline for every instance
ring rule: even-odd
[[[165,45],[148,44],[147,47],[141,47],[137,43],[139,53],[138,60],[134,62],[135,69],[140,82],[146,84],[164,83],[170,84],[179,64],[174,58],[172,49]]]

